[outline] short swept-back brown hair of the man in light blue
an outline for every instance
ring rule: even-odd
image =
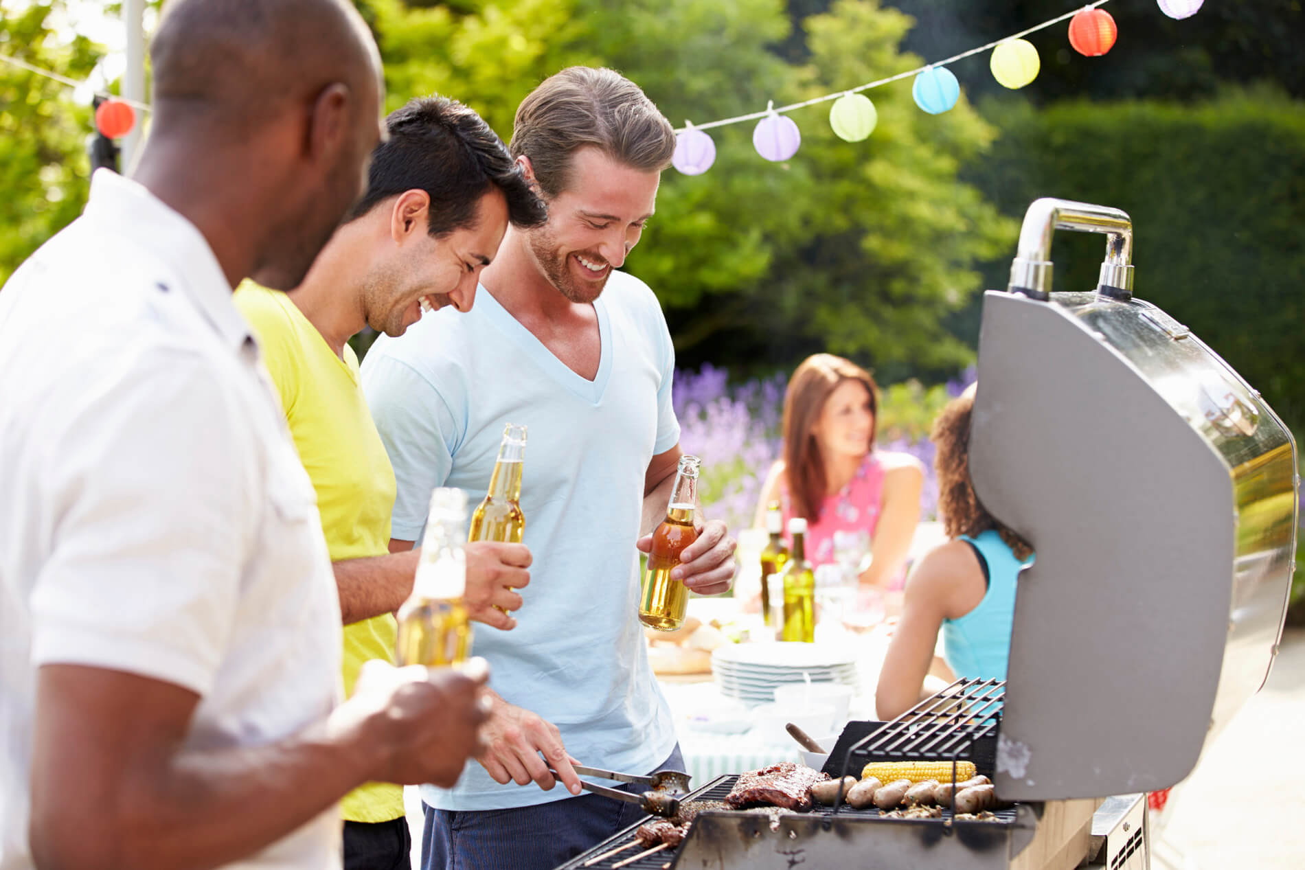
[[[675,129],[639,86],[613,69],[568,67],[517,107],[512,154],[530,158],[547,196],[569,187],[572,155],[585,146],[645,172],[675,154]]]

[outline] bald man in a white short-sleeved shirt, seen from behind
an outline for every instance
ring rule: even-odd
[[[339,867],[335,802],[452,785],[484,668],[364,674],[231,300],[358,198],[380,60],[343,0],[172,0],[134,179],[0,291],[0,869]]]

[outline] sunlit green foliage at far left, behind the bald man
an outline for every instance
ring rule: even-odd
[[[60,40],[51,4],[0,8],[0,53],[65,76],[90,74],[97,46]],[[86,202],[90,107],[65,85],[0,63],[0,283]]]

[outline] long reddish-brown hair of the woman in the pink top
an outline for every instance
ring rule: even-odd
[[[869,449],[873,450],[874,427],[880,415],[880,389],[870,373],[856,363],[833,353],[808,356],[793,372],[784,393],[782,430],[788,500],[793,517],[805,517],[809,523],[820,520],[820,506],[829,485],[813,429],[830,393],[843,381],[859,381],[870,394],[870,415],[874,417],[874,424],[870,427]]]

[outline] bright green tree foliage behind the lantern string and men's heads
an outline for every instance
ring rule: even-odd
[[[570,64],[637,81],[679,125],[817,97],[907,69],[911,20],[878,0],[839,0],[804,22],[809,59],[787,63],[780,0],[523,0],[411,8],[359,0],[385,60],[392,104],[441,91],[463,98],[505,138],[515,104]],[[830,348],[899,370],[954,370],[970,350],[941,316],[979,287],[977,258],[1014,226],[958,167],[992,141],[962,103],[924,116],[910,82],[872,94],[880,127],[860,143],[834,137],[829,104],[793,115],[804,142],[784,164],[752,147],[752,123],[711,130],[715,166],[667,172],[658,214],[629,269],[660,296],[681,361],[787,367]]]

